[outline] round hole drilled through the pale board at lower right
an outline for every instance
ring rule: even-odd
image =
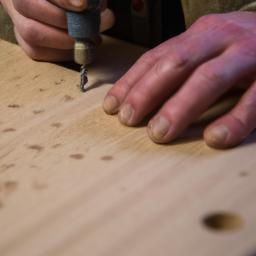
[[[236,214],[216,213],[203,220],[204,225],[215,231],[233,231],[243,226],[243,220]]]

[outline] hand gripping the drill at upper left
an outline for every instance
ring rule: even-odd
[[[65,61],[73,59],[74,38],[68,35],[64,9],[82,11],[86,0],[0,0],[14,23],[17,41],[26,54],[36,60]],[[100,31],[110,28],[114,14],[101,1]],[[101,43],[98,36],[93,39]]]

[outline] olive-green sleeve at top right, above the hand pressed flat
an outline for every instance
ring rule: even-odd
[[[181,0],[181,2],[187,28],[207,14],[256,11],[256,2],[252,0]]]

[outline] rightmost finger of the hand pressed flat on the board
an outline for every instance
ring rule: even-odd
[[[239,144],[256,128],[256,83],[243,95],[237,106],[204,131],[210,147],[229,148]]]

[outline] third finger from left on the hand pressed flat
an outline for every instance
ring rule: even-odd
[[[237,80],[255,71],[255,57],[241,49],[246,47],[232,47],[196,70],[150,121],[148,134],[153,141],[167,143],[176,138]]]

